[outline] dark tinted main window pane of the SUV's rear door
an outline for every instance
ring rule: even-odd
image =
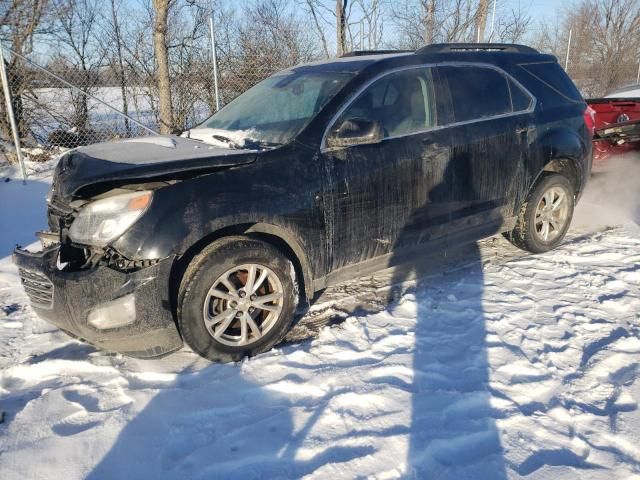
[[[443,66],[438,69],[449,84],[456,122],[513,111],[508,80],[500,72],[473,66]]]

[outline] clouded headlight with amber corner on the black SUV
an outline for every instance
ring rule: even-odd
[[[133,192],[91,202],[71,224],[69,237],[74,242],[104,247],[142,216],[152,196],[152,192]]]

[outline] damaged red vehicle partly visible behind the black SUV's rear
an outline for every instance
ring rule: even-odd
[[[640,151],[640,85],[587,103],[594,130],[593,171],[605,170],[615,155]]]

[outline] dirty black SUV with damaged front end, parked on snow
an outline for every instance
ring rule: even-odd
[[[562,240],[591,170],[586,104],[519,45],[359,52],[280,72],[181,136],[59,162],[34,310],[137,357],[264,352],[327,285],[504,233]]]

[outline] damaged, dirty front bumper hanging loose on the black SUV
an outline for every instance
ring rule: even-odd
[[[132,357],[159,357],[182,347],[169,298],[173,258],[133,272],[107,266],[67,271],[59,253],[59,244],[14,251],[38,316],[82,341]],[[110,323],[109,317],[122,318]]]

